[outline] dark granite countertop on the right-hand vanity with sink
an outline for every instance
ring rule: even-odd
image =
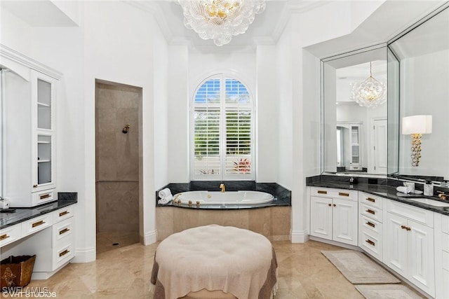
[[[410,198],[429,198],[431,200],[436,200],[438,202],[445,202],[449,204],[449,200],[440,200],[438,197],[425,196],[419,194],[404,194],[396,191],[396,187],[377,185],[369,183],[358,183],[349,184],[347,182],[337,182],[337,181],[321,181],[314,183],[307,183],[309,187],[322,187],[322,188],[336,188],[336,189],[347,189],[347,190],[358,190],[365,193],[370,193],[380,197],[388,198],[389,200],[394,200],[396,202],[402,202],[403,204],[410,204],[415,207],[420,207],[422,209],[427,209],[429,211],[434,211],[439,214],[449,216],[449,207],[434,207],[430,204],[424,204],[421,202],[415,202],[410,200]]]

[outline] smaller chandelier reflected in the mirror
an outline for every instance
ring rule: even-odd
[[[355,84],[351,97],[360,106],[373,108],[387,101],[387,86],[373,77],[373,66],[370,62],[370,76],[362,83]]]

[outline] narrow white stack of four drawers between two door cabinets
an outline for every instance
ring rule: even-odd
[[[384,199],[368,193],[358,193],[358,246],[382,261],[382,225]]]

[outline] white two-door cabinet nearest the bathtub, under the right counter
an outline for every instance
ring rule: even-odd
[[[356,190],[310,190],[310,235],[344,244],[358,244]]]

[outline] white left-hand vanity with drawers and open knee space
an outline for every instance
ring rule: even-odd
[[[74,257],[74,204],[53,202],[0,215],[0,253],[32,256],[32,279],[48,279]]]

